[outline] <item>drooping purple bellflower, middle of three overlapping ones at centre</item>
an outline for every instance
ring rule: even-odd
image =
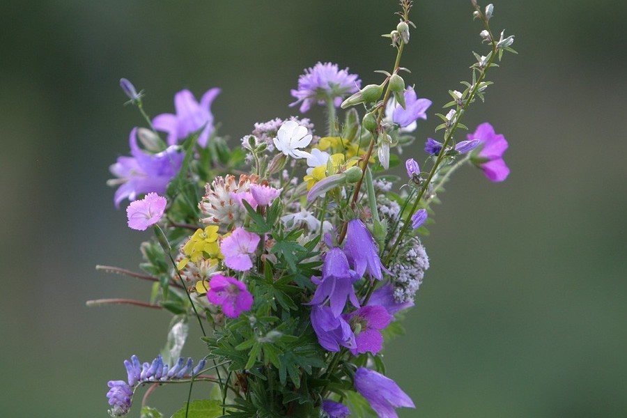
[[[329,300],[331,313],[336,318],[344,310],[347,298],[353,306],[359,307],[353,288],[353,283],[359,279],[359,276],[348,268],[348,259],[341,249],[334,247],[327,252],[322,273],[322,280],[316,277],[311,278],[318,288],[308,304],[323,304]]]

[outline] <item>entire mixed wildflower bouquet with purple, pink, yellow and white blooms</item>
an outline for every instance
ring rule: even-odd
[[[154,236],[141,245],[143,273],[98,268],[153,287],[149,302],[88,304],[166,309],[173,320],[155,359],[132,355],[126,380],[109,382],[111,416],[127,415],[148,386],[135,408],[162,417],[148,394],[171,382],[210,386],[173,417],[396,417],[395,408],[414,408],[384,376],[380,353],[429,267],[419,236],[451,174],[467,164],[492,181],[509,174],[507,142],[492,125],[458,130],[467,129],[461,119],[470,104],[484,99],[495,61],[513,52],[513,37],[494,36],[493,5],[472,1],[487,52],[474,54],[461,91],[449,91],[450,111],[435,114],[440,141],[426,139],[419,158],[410,145],[432,103],[401,76],[409,73],[401,57],[411,6],[401,0],[400,22],[385,35],[396,60],[378,71],[379,84],[362,87],[332,63],[299,77],[290,106],[302,114],[323,106],[324,133],[307,118],[276,118],[230,149],[210,111],[218,88],[200,101],[180,91],[176,113],[150,118],[142,93],[121,80],[148,127],[131,130],[131,156],[111,165],[114,202],[130,201],[128,226]],[[410,151],[406,177],[387,173],[401,165],[401,151]],[[181,357],[192,326],[206,347],[196,362]]]

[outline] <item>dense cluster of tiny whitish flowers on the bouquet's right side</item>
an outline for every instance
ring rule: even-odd
[[[398,251],[396,262],[389,267],[394,274],[394,300],[398,303],[413,302],[424,272],[429,268],[429,258],[418,238],[412,237],[403,242],[401,248],[403,251]]]

